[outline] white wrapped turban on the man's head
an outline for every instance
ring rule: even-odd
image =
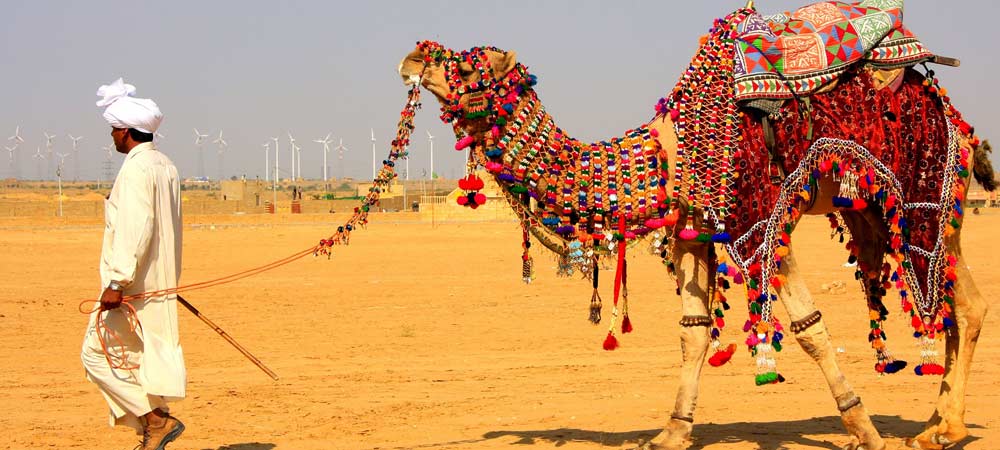
[[[104,120],[115,128],[135,128],[143,133],[155,133],[163,120],[163,113],[156,103],[146,98],[135,98],[135,86],[125,84],[121,78],[97,89],[102,98]]]

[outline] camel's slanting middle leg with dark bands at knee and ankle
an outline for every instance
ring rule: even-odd
[[[782,260],[782,271],[787,281],[779,292],[782,303],[791,317],[791,331],[795,339],[809,356],[819,364],[830,386],[830,392],[837,402],[841,420],[847,432],[852,436],[852,442],[845,448],[882,450],[885,442],[868,417],[868,411],[861,404],[861,398],[854,393],[848,384],[837,360],[834,357],[830,335],[823,323],[822,315],[816,309],[812,296],[806,288],[796,267],[794,251]]]

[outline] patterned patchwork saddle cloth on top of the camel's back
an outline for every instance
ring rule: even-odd
[[[911,66],[933,54],[903,26],[903,0],[822,2],[753,14],[736,40],[736,100],[808,95],[864,62]]]

